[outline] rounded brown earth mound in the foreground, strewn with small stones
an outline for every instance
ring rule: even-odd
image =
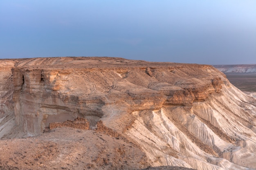
[[[0,140],[1,170],[137,170],[146,155],[132,143],[103,132],[55,128],[37,137]]]

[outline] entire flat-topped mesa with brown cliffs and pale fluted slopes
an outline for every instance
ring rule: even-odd
[[[136,143],[151,166],[256,168],[256,100],[212,66],[108,57],[0,63],[0,119],[13,115],[0,137],[40,135],[49,123],[81,117]]]

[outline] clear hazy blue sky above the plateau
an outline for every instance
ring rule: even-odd
[[[256,64],[256,0],[0,0],[0,58]]]

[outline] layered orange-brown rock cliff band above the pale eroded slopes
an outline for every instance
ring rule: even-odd
[[[92,64],[99,68],[90,66],[85,59],[85,63],[78,60],[82,65],[73,64],[73,68],[71,60],[71,64],[49,68],[39,65],[31,68],[26,64],[12,69],[16,122],[25,134],[39,135],[50,122],[75,117],[87,118],[90,126],[106,117],[108,126],[124,129],[123,123],[116,123],[117,117],[168,105],[191,107],[193,102],[204,101],[211,93],[220,93],[223,84],[218,74],[211,73],[211,66],[157,66],[148,62],[137,65],[128,60],[119,61],[127,62],[120,65],[104,58],[113,64],[107,68],[98,65],[102,60],[92,59],[95,60]],[[29,63],[34,66],[37,62]],[[68,65],[71,68],[64,68]],[[109,119],[111,114],[115,114],[115,119]]]

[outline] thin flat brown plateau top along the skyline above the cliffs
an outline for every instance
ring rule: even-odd
[[[146,62],[142,60],[127,60],[117,57],[42,57],[24,59],[2,59],[0,66],[15,66],[29,69],[53,68],[121,68],[121,67],[184,67],[207,66],[199,64],[181,64],[172,62]]]

